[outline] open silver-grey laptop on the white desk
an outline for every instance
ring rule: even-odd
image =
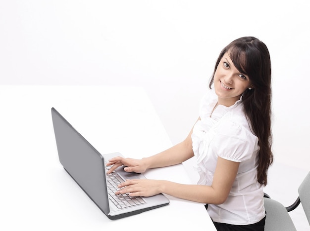
[[[128,173],[118,167],[106,174],[105,160],[120,153],[100,154],[70,123],[52,108],[52,123],[59,161],[65,171],[111,220],[139,214],[169,204],[162,193],[150,197],[115,195],[114,181],[143,179],[141,173]]]

